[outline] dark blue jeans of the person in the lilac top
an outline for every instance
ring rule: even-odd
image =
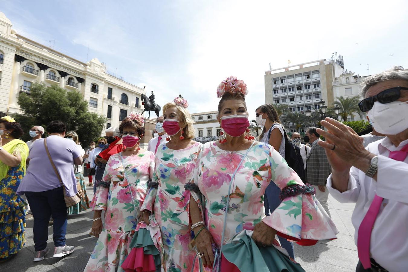
[[[55,246],[65,245],[67,232],[67,206],[64,201],[62,187],[44,192],[24,192],[34,217],[34,248],[35,251],[47,248],[48,222],[50,215],[54,220],[53,240]]]

